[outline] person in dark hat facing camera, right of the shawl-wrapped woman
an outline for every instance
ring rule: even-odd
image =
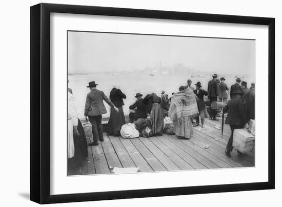
[[[204,89],[200,89],[202,88],[200,82],[197,82],[196,85],[196,90],[194,90],[194,93],[196,94],[197,96],[197,106],[198,106],[198,111],[200,113],[200,119],[201,119],[201,122],[202,122],[202,125],[201,127],[202,128],[205,128],[204,124],[205,124],[205,118],[208,118],[208,112],[207,112],[207,109],[206,109],[206,104],[205,104],[205,101],[204,101],[204,95],[208,95],[208,92],[205,91]],[[196,127],[196,126],[199,126],[199,116],[196,118],[196,123],[193,127]]]

